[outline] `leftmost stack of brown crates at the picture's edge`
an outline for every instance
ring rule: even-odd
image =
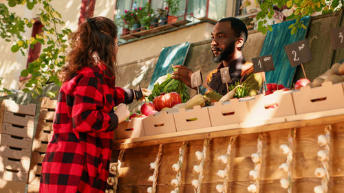
[[[30,167],[36,105],[0,102],[0,189],[25,192]]]

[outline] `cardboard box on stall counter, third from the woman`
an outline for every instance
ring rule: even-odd
[[[208,109],[199,105],[193,106],[191,110],[179,109],[178,113],[173,113],[173,117],[177,131],[211,126]]]

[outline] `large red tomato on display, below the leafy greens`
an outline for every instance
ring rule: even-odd
[[[172,93],[162,93],[160,96],[155,97],[153,100],[153,104],[155,106],[155,109],[160,111],[161,109],[164,109],[165,107],[173,107],[175,104],[182,103],[182,98],[180,98],[180,95],[178,93],[172,92]]]

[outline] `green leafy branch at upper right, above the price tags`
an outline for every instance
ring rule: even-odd
[[[260,4],[261,11],[256,16],[257,21],[259,21],[257,30],[264,34],[268,30],[272,31],[271,25],[267,24],[267,19],[272,19],[275,14],[274,5],[278,8],[287,5],[288,8],[293,10],[293,13],[287,17],[287,19],[296,20],[295,23],[289,26],[289,29],[292,29],[291,34],[295,34],[298,28],[306,28],[303,21],[301,21],[304,16],[310,16],[314,12],[326,14],[343,8],[341,0],[265,0]]]

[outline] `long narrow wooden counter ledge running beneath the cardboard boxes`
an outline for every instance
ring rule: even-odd
[[[186,130],[175,133],[166,133],[161,135],[151,135],[138,137],[133,139],[120,139],[114,141],[114,149],[133,148],[138,146],[153,146],[158,144],[166,144],[180,141],[190,141],[197,139],[205,139],[206,137],[224,137],[230,135],[240,135],[248,133],[260,133],[271,130],[281,130],[286,128],[297,128],[301,126],[314,126],[319,124],[338,123],[344,119],[344,109],[336,109],[332,111],[316,112],[304,115],[293,115],[286,117],[290,122],[282,122],[277,124],[266,124],[268,121],[255,122],[257,126],[239,128],[237,124],[215,126],[208,128],[197,128],[195,130]],[[330,116],[333,115],[333,116]],[[315,117],[312,119],[312,117]],[[306,120],[302,120],[306,119]]]

